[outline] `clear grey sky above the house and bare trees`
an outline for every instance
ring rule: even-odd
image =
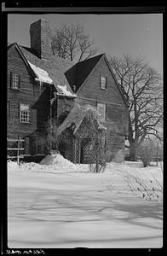
[[[30,47],[30,25],[39,19],[49,21],[51,29],[77,21],[95,39],[97,54],[145,57],[150,66],[163,74],[163,15],[8,15],[8,43]]]

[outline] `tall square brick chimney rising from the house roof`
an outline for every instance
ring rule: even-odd
[[[36,50],[39,58],[49,60],[49,55],[52,55],[51,37],[52,32],[47,20],[37,20],[31,24],[31,48]]]

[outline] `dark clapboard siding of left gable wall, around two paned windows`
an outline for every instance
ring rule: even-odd
[[[11,72],[20,74],[20,90],[11,89]],[[42,109],[42,114],[38,105],[39,98],[45,90],[42,87],[41,93],[39,84],[32,78],[32,73],[26,67],[17,49],[11,49],[8,55],[8,132],[17,133],[21,136],[30,135],[37,130],[37,120],[46,114],[46,109]],[[47,99],[45,99],[47,101]],[[20,102],[28,103],[32,107],[32,122],[29,124],[20,123]],[[43,104],[41,104],[43,105]],[[37,115],[38,114],[38,115]],[[38,118],[37,118],[38,117]],[[40,122],[39,122],[40,123]]]

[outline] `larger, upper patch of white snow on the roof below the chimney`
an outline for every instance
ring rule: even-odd
[[[36,80],[48,84],[53,84],[53,80],[49,78],[49,73],[40,67],[36,67],[30,61],[28,61],[30,67],[32,67],[33,72],[37,75]]]

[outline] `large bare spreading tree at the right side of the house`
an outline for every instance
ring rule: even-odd
[[[124,92],[129,108],[130,160],[136,160],[137,148],[147,136],[162,139],[163,91],[158,72],[144,61],[124,55],[109,58],[113,73]]]

